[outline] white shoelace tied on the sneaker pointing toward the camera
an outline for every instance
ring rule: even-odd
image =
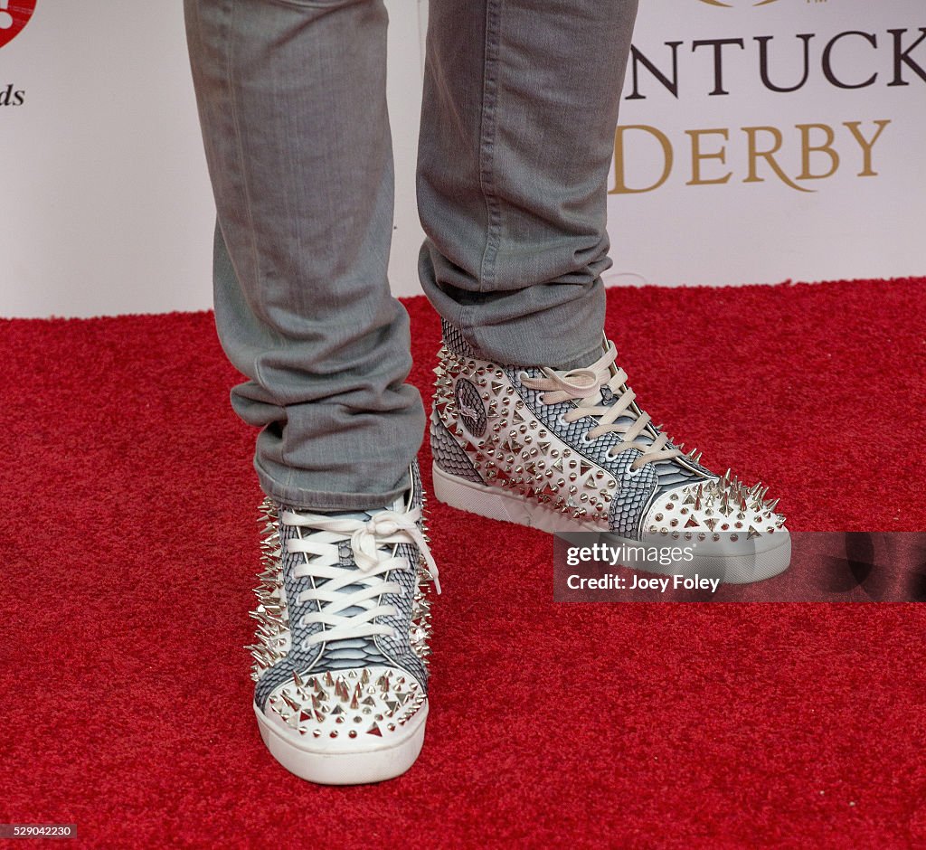
[[[283,525],[311,529],[306,537],[290,538],[286,541],[287,551],[305,553],[309,556],[294,569],[297,578],[312,579],[313,587],[299,594],[299,602],[318,602],[319,610],[303,617],[303,625],[322,623],[321,631],[312,635],[303,644],[305,648],[327,641],[345,638],[368,637],[374,634],[392,634],[393,629],[382,623],[373,622],[378,617],[394,616],[394,606],[380,605],[376,600],[382,594],[402,594],[403,588],[397,581],[382,578],[391,569],[404,569],[404,558],[390,556],[381,547],[390,544],[414,544],[428,565],[428,572],[437,593],[441,592],[437,565],[428,548],[427,541],[418,527],[420,508],[397,513],[382,510],[369,519],[332,517],[323,514],[309,514],[283,511],[280,520]],[[339,563],[338,544],[349,540],[357,569],[342,567]],[[322,583],[316,587],[315,580]],[[349,585],[359,589],[344,592]],[[344,614],[348,608],[358,607],[362,611]]]

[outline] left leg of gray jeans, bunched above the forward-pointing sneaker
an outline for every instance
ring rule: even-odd
[[[424,411],[389,293],[393,159],[382,0],[185,0],[218,210],[216,325],[249,380],[279,501],[382,506],[407,489]]]

